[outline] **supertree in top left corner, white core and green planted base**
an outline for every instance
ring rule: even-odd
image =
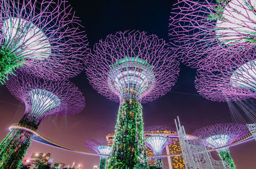
[[[73,77],[88,43],[66,0],[0,0],[0,82],[18,68],[37,77]]]

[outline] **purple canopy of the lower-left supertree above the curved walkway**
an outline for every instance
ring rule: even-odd
[[[25,104],[25,115],[34,120],[42,121],[51,114],[76,114],[84,108],[83,94],[68,81],[45,80],[20,71],[10,77],[6,87]]]

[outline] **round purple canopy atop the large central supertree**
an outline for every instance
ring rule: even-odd
[[[93,88],[111,100],[145,103],[172,89],[179,62],[163,39],[145,32],[110,34],[95,44],[87,66]],[[132,97],[131,97],[132,95]]]

